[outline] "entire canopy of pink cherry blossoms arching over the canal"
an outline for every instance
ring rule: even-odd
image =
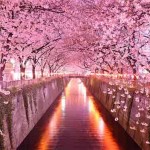
[[[59,49],[82,52],[86,59],[81,65],[91,70],[135,75],[140,68],[150,70],[144,52],[149,47],[147,2],[6,0],[0,6],[5,20],[1,23],[3,50],[15,54],[21,74],[25,74],[28,61],[35,70],[42,53],[48,48],[51,51],[51,42],[57,38],[62,41]],[[6,53],[4,58],[1,62],[5,64]]]

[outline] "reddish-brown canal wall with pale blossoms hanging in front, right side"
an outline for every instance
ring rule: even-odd
[[[89,77],[84,83],[143,150],[150,150],[150,98],[140,90]],[[123,140],[123,137],[122,137]]]

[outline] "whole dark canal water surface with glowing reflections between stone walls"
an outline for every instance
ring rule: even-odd
[[[18,150],[140,150],[80,79],[72,79]]]

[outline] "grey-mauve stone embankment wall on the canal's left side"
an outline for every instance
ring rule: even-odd
[[[0,150],[15,150],[21,144],[68,81],[67,77],[39,81],[0,93]]]

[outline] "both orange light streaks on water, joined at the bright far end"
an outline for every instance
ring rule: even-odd
[[[65,115],[65,113],[69,114]],[[103,120],[93,96],[87,95],[86,88],[80,79],[72,79],[65,88],[65,92],[62,94],[59,103],[55,107],[48,125],[44,127],[36,149],[47,150],[55,147],[58,142],[57,140],[59,139],[58,137],[61,136],[60,129],[64,125],[64,122],[66,127],[67,121],[70,122],[70,119],[74,116],[76,117],[77,113],[83,120],[84,117],[89,118],[87,121],[88,130],[90,130],[89,133],[98,137],[99,145],[103,146],[102,149],[119,150],[119,146],[115,141],[111,130]],[[73,127],[74,122],[71,125],[71,127]],[[82,129],[79,127],[79,130]]]

